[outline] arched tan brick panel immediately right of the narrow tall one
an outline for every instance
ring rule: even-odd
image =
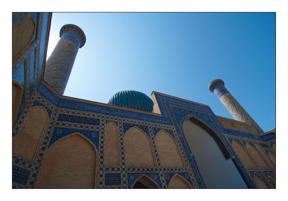
[[[127,166],[156,166],[150,139],[137,127],[125,133],[124,151]]]

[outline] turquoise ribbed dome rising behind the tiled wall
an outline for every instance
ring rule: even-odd
[[[132,109],[152,112],[153,101],[146,94],[135,90],[125,90],[112,96],[107,102],[109,105],[117,105]]]

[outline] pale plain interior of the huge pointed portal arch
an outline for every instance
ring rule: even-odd
[[[247,188],[231,158],[226,160],[213,137],[190,119],[183,123],[183,132],[206,187]]]

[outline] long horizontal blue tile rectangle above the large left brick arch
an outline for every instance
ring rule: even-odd
[[[59,114],[57,121],[62,122],[73,122],[79,124],[89,124],[89,125],[96,125],[99,126],[100,120],[95,118],[89,117],[81,117],[81,116],[73,116],[73,115],[66,115],[66,114]]]

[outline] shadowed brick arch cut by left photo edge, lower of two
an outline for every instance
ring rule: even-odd
[[[20,84],[12,83],[12,126],[14,125],[18,113],[22,91],[23,89]]]

